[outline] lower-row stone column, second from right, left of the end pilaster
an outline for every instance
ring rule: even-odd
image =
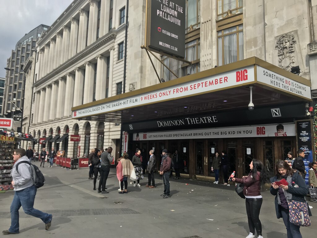
[[[107,71],[107,57],[99,55],[97,59],[97,75],[96,75],[96,100],[106,97],[106,71]]]

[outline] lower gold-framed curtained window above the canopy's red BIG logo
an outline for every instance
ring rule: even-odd
[[[243,60],[243,24],[217,32],[218,66]]]

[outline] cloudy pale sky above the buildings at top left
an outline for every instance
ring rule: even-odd
[[[73,0],[0,0],[0,78],[16,43],[40,24],[51,25]]]

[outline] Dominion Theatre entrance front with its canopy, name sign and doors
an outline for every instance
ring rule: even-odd
[[[73,107],[72,117],[121,123],[122,151],[153,149],[161,158],[162,149],[178,150],[183,177],[210,180],[223,150],[229,173],[247,175],[256,158],[273,175],[277,160],[296,153],[300,136],[311,144],[311,101],[309,80],[251,57]]]

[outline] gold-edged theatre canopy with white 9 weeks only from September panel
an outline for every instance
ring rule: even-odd
[[[257,57],[72,108],[72,118],[128,124],[311,100],[310,81]]]

